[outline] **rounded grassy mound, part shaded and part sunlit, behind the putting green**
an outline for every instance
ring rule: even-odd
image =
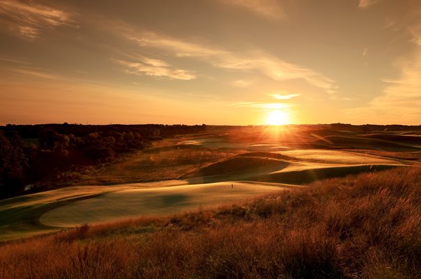
[[[185,179],[190,183],[247,180],[303,184],[402,165],[399,160],[337,150],[250,152],[201,167]]]

